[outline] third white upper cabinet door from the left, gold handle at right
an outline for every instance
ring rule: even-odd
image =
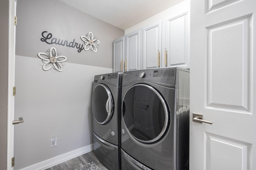
[[[162,48],[162,23],[143,28],[143,51],[142,66],[143,69],[161,67],[161,54],[158,58],[158,52]]]

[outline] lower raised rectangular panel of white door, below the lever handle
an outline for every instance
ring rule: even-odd
[[[206,133],[206,165],[209,170],[248,170],[252,145]]]

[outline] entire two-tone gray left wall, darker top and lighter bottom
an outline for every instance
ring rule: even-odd
[[[15,116],[24,123],[14,129],[14,170],[45,165],[62,154],[92,144],[92,85],[94,75],[112,72],[112,42],[124,30],[93,18],[58,0],[22,0],[17,6]],[[81,51],[40,41],[42,31],[82,43],[92,32],[98,52]],[[44,71],[39,52],[55,47],[68,59],[63,71]],[[51,147],[51,138],[57,146]]]

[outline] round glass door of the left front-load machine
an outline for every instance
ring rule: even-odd
[[[96,121],[102,125],[110,121],[114,111],[114,100],[109,88],[98,84],[92,94],[92,113]]]

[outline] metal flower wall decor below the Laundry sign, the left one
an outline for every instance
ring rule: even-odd
[[[44,63],[44,70],[50,70],[53,68],[59,72],[63,70],[62,63],[67,60],[67,57],[60,55],[60,52],[54,47],[48,49],[46,53],[38,53],[38,57],[42,59],[42,62]]]

